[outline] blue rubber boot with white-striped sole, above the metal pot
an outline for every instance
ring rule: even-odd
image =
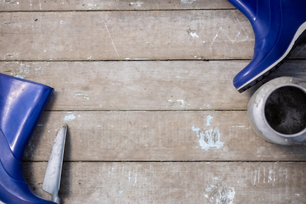
[[[251,62],[234,78],[243,92],[281,66],[306,39],[306,0],[228,0],[250,21],[255,34]]]

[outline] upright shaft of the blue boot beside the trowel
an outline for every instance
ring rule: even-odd
[[[22,161],[25,147],[53,91],[43,84],[0,73],[0,130],[16,159]]]

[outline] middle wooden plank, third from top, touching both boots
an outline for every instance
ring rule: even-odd
[[[0,72],[54,87],[47,110],[246,110],[258,87],[239,93],[232,79],[248,62],[0,62]],[[305,68],[290,60],[267,80],[306,79]]]

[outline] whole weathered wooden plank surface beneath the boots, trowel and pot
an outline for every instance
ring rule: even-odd
[[[0,72],[55,88],[24,154],[38,195],[68,124],[62,204],[305,204],[306,147],[256,136],[232,79],[254,34],[226,0],[3,0]],[[306,49],[265,80],[306,79]],[[210,140],[213,139],[213,140]]]

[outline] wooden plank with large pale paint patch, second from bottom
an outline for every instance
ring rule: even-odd
[[[67,161],[304,161],[306,146],[283,147],[256,136],[246,111],[45,112],[25,152],[48,160],[68,124]]]

